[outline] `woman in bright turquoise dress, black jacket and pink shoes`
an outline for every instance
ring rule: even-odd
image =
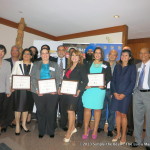
[[[100,47],[95,48],[94,60],[87,64],[87,73],[103,73],[105,76],[105,85],[111,80],[111,68],[110,64],[104,61],[104,52]],[[100,86],[97,88],[91,88],[86,86],[86,91],[83,93],[82,102],[84,107],[84,134],[82,139],[88,138],[89,121],[91,118],[91,110],[94,109],[94,130],[92,133],[92,139],[97,138],[97,129],[101,116],[101,109],[103,109],[103,103],[105,98],[106,86]]]

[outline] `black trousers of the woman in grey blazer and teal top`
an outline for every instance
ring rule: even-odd
[[[39,134],[54,134],[58,95],[45,94],[43,96],[38,96],[37,94],[33,93],[33,97],[37,107]]]

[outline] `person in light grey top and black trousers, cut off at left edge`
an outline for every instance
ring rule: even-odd
[[[0,134],[4,128],[6,128],[6,109],[5,101],[10,96],[10,75],[11,66],[10,63],[4,60],[6,54],[5,46],[0,44]]]

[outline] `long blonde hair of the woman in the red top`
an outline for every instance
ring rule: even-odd
[[[71,57],[72,57],[72,54],[75,54],[76,56],[79,56],[79,62],[78,64],[81,65],[83,64],[83,55],[82,53],[79,51],[79,50],[76,50],[74,49],[71,53],[70,53],[70,56],[68,58],[68,66],[67,66],[67,69],[69,69],[72,65],[73,65],[73,62],[71,60]]]

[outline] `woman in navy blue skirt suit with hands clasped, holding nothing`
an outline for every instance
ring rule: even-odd
[[[114,68],[111,82],[112,110],[116,111],[117,126],[117,135],[112,142],[121,138],[120,145],[126,143],[127,113],[135,82],[136,66],[133,64],[132,53],[130,50],[122,50],[120,63]]]

